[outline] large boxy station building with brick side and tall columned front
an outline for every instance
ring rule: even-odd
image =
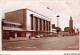
[[[51,34],[51,19],[30,9],[20,9],[5,13],[2,32],[9,36],[29,37],[31,34]]]

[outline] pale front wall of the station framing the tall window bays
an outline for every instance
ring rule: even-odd
[[[26,14],[26,16],[27,16],[27,20],[26,20],[27,21],[27,24],[26,24],[27,30],[31,31],[31,16],[30,15],[33,14],[33,16],[35,16],[35,17],[33,17],[33,31],[36,31],[36,27],[37,27],[37,31],[41,31],[40,30],[40,20],[42,23],[42,31],[49,31],[50,20],[48,18],[43,17],[43,16],[41,16],[33,11],[30,11],[30,10],[27,10],[26,12],[27,12],[27,14]],[[45,21],[45,23],[44,23],[44,21]],[[36,23],[38,26],[36,25]],[[45,24],[45,26],[43,23]]]

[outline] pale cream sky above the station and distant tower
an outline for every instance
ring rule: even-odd
[[[1,0],[1,17],[4,13],[28,8],[51,19],[51,23],[57,26],[57,15],[59,27],[69,27],[70,16],[73,26],[79,28],[79,0]]]

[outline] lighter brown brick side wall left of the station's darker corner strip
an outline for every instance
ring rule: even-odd
[[[5,13],[5,19],[10,22],[23,23],[23,10]]]

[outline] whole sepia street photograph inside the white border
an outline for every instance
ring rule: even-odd
[[[79,50],[79,0],[1,0],[2,51]]]

